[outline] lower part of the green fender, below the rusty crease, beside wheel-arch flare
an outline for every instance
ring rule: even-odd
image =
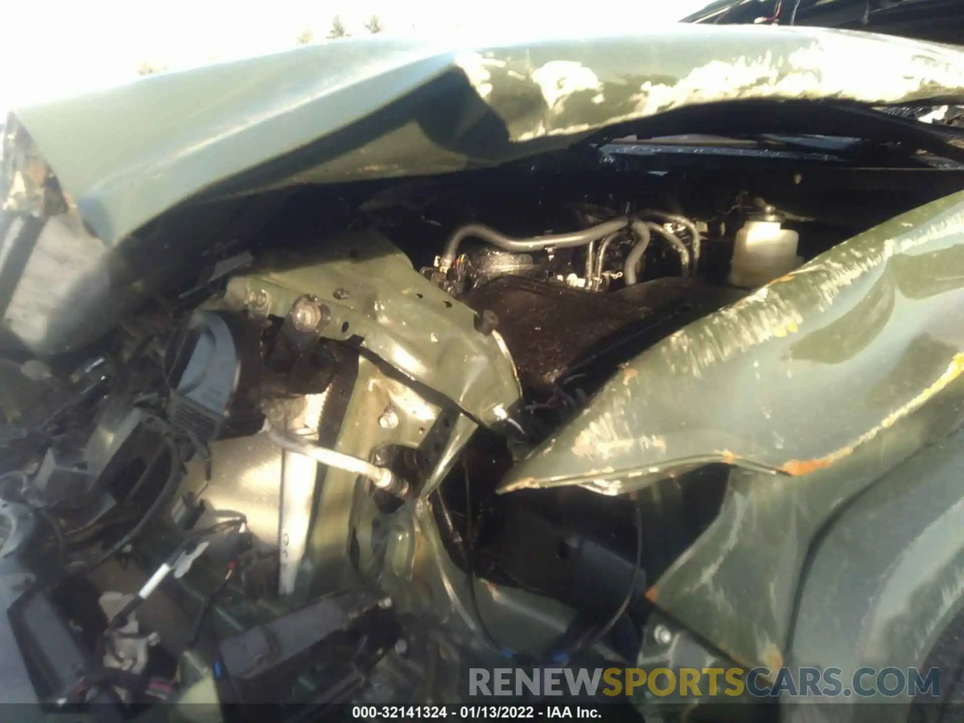
[[[959,427],[962,401],[958,378],[837,466],[806,477],[735,469],[717,519],[647,597],[742,665],[790,663],[793,605],[811,543],[845,502]]]

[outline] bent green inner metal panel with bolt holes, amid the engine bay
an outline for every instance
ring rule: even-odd
[[[475,312],[418,274],[378,231],[322,239],[308,255],[274,254],[263,273],[229,281],[226,300],[240,308],[257,292],[268,302],[259,311],[280,317],[313,295],[329,310],[320,335],[358,337],[363,349],[485,424],[518,406],[522,390],[499,335],[475,331]]]

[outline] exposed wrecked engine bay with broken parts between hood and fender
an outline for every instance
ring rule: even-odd
[[[498,481],[657,341],[960,185],[639,148],[192,208],[231,223],[163,293],[6,362],[0,564],[40,580],[12,620],[43,697],[317,711],[457,701],[473,663],[634,660],[730,468]]]

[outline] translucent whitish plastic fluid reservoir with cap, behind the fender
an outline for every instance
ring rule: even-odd
[[[803,263],[796,254],[800,236],[782,228],[783,219],[767,208],[747,218],[736,231],[729,281],[734,286],[755,287],[790,273]]]

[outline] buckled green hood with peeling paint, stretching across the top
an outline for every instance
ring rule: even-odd
[[[492,165],[687,105],[937,97],[964,99],[964,52],[815,28],[678,25],[492,47],[320,43],[24,108],[12,127],[23,123],[113,244],[201,195]]]

